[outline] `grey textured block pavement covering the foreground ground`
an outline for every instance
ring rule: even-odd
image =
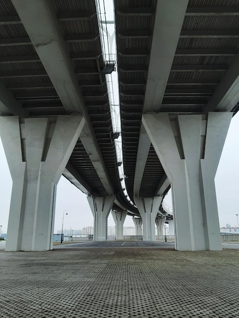
[[[239,250],[0,252],[0,317],[239,318]]]

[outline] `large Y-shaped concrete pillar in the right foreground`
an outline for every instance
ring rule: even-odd
[[[229,112],[143,115],[171,182],[178,250],[222,249],[214,178],[231,117]]]

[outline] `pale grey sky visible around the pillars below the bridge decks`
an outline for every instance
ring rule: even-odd
[[[227,223],[231,226],[237,225],[235,214],[239,212],[238,136],[239,114],[236,114],[230,124],[215,178],[220,226],[225,226]],[[7,232],[11,188],[11,175],[0,141],[0,225],[3,226],[3,233]],[[170,194],[166,198],[166,203],[172,206]],[[64,210],[68,210],[68,215],[64,217],[65,229],[82,229],[86,226],[93,226],[93,215],[86,196],[62,177],[57,185],[54,232],[62,228]],[[111,215],[108,225],[114,226]],[[124,225],[134,226],[132,217],[127,216]]]

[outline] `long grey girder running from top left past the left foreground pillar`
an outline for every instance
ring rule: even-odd
[[[82,130],[81,142],[107,194],[113,195],[113,187],[85,107],[53,3],[42,0],[22,0],[20,2],[13,0],[12,2],[64,108],[69,113],[84,116],[86,124]],[[40,16],[44,18],[39,18]]]

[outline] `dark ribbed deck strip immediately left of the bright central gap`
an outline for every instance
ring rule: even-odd
[[[54,4],[56,9],[56,15],[59,19],[61,19],[61,16],[63,16],[64,14],[69,13],[69,18],[66,18],[64,20],[61,19],[61,21],[59,20],[59,23],[61,24],[63,36],[66,40],[68,50],[75,68],[75,72],[77,73],[79,85],[81,85],[81,91],[84,97],[85,105],[87,107],[89,116],[91,118],[93,129],[95,132],[100,131],[106,133],[104,140],[98,138],[98,135],[96,135],[96,137],[106,165],[110,181],[115,190],[115,193],[117,193],[119,186],[119,176],[117,169],[115,168],[117,159],[114,141],[111,139],[112,122],[109,108],[106,78],[105,75],[101,74],[101,71],[104,67],[104,61],[102,56],[101,41],[98,37],[99,27],[96,16],[95,1],[90,0],[87,3],[83,4],[83,2],[81,2],[80,4],[77,1],[70,1],[69,3],[65,3],[64,1],[55,0]],[[93,13],[92,18],[71,19],[71,15],[72,17],[74,17],[74,14],[76,13],[87,14],[91,12]],[[96,35],[97,37],[94,41],[87,41],[87,39],[86,41],[78,41],[76,37],[75,40],[74,38],[72,38],[69,42],[67,40],[67,36],[69,35]],[[85,56],[82,56],[82,53],[85,53]],[[90,55],[91,53],[96,53],[96,57],[88,60],[87,54]],[[98,74],[94,73],[91,75],[92,70],[93,72],[97,71]],[[100,83],[101,85],[95,86],[95,83]],[[102,105],[102,103],[104,104],[104,106],[98,107],[98,105]],[[95,107],[87,105],[95,105]],[[105,113],[97,114],[99,110],[104,111]],[[96,114],[93,113],[94,111],[96,112]],[[107,143],[107,146],[105,143]],[[74,151],[72,155],[74,155]],[[70,161],[71,160],[72,157],[70,158]],[[80,161],[78,164],[78,169],[79,167]],[[97,186],[95,189],[97,190]],[[101,195],[104,195],[102,194],[102,191]]]

